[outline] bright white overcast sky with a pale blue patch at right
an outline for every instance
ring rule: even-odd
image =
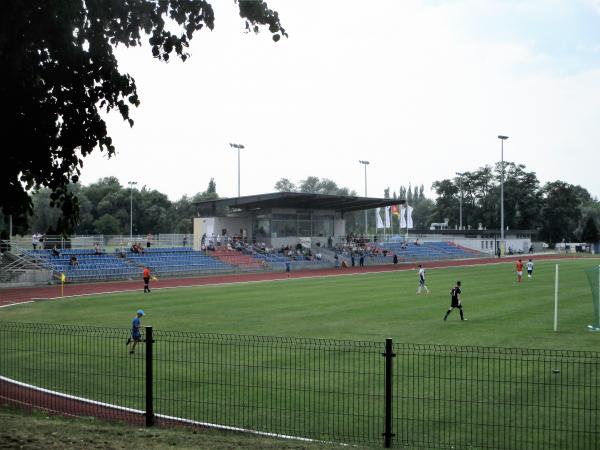
[[[116,176],[177,200],[328,178],[383,197],[504,160],[600,197],[600,0],[269,0],[289,34],[246,33],[232,1],[185,63],[118,47],[141,105],[105,114]]]

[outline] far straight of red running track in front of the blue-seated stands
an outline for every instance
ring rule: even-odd
[[[526,255],[523,255],[503,258],[501,260],[497,258],[480,258],[448,261],[422,261],[420,263],[423,264],[423,267],[425,268],[433,269],[438,267],[472,266],[479,264],[506,264],[513,263],[519,258],[527,259],[528,257]],[[534,258],[536,261],[539,261],[540,259],[573,259],[575,258],[575,256],[536,255]],[[397,266],[386,264],[379,266],[349,267],[344,269],[330,268],[318,270],[303,270],[298,272],[291,272],[289,274],[283,272],[255,272],[201,276],[191,278],[165,278],[157,281],[152,281],[151,287],[152,289],[161,289],[183,286],[202,286],[205,284],[227,284],[249,281],[282,280],[286,278],[325,277],[371,272],[391,272],[394,270],[412,270],[417,264],[419,264],[419,262],[402,263]],[[143,290],[143,282],[141,277],[142,274],[140,272],[139,281],[105,281],[100,283],[66,284],[64,287],[64,295],[71,297],[77,295],[101,294],[108,292],[125,292],[133,291],[136,289],[140,289],[141,291]],[[60,296],[60,285],[0,289],[0,307],[17,303],[56,299]]]

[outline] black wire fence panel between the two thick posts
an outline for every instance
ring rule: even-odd
[[[159,417],[324,441],[382,442],[382,343],[154,335]]]

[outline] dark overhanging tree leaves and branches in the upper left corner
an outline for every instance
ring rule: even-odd
[[[264,1],[237,5],[247,30],[265,26],[275,41],[287,36]],[[78,181],[85,157],[95,149],[115,153],[101,112],[116,110],[133,126],[130,107],[140,103],[114,47],[147,38],[155,58],[185,61],[195,33],[212,30],[214,21],[206,0],[0,2],[2,124],[19,140],[3,151],[3,213],[30,212],[28,192],[46,187],[50,205],[61,206],[63,220],[74,223],[81,203],[69,185]]]

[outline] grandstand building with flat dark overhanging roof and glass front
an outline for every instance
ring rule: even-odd
[[[326,245],[346,235],[344,214],[404,203],[404,200],[277,192],[196,203],[194,249],[202,236],[239,235],[268,246]]]

